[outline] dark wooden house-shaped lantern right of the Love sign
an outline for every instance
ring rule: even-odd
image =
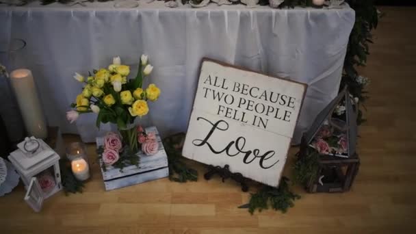
[[[335,114],[339,104],[345,106],[345,112]],[[317,151],[319,154],[317,174],[306,185],[308,192],[346,192],[350,190],[360,165],[359,155],[356,153],[357,108],[347,88],[344,88],[317,115],[309,131],[302,136],[299,157],[307,157],[312,151]],[[322,129],[326,129],[326,127],[329,130],[324,132],[328,135],[322,134]],[[331,131],[330,129],[335,130]],[[330,144],[328,144],[330,149],[326,151],[325,140],[336,139],[335,134],[343,135],[343,140],[346,140],[343,142],[343,153],[333,150]],[[334,140],[330,141],[334,142]],[[323,146],[319,147],[317,142],[324,142]]]

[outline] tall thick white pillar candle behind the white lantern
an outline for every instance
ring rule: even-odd
[[[31,71],[28,69],[12,71],[10,73],[10,83],[16,95],[27,133],[36,138],[47,138],[47,125],[44,121]]]

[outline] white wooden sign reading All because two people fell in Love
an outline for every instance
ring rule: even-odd
[[[278,186],[306,89],[204,59],[183,156]]]

